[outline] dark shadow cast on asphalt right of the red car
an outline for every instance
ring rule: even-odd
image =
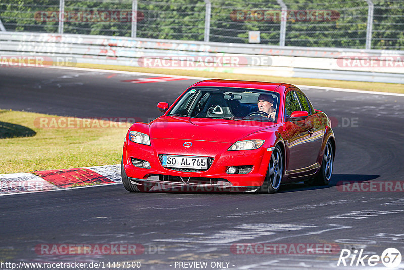
[[[380,175],[375,174],[333,174],[331,177],[331,182],[327,186],[310,186],[303,182],[285,184],[279,188],[279,193],[283,192],[293,192],[302,190],[317,190],[317,189],[327,189],[334,186],[341,186],[349,183],[370,181],[379,178]]]

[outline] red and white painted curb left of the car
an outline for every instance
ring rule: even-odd
[[[120,183],[121,165],[0,174],[0,196]]]

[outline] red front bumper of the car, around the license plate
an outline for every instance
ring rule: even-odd
[[[132,178],[132,183],[136,185],[149,183],[150,185],[169,185],[180,189],[189,187],[192,189],[224,189],[223,191],[240,191],[240,189],[248,191],[262,186],[272,151],[268,151],[265,147],[246,151],[227,151],[229,147],[230,145],[227,143],[204,142],[203,148],[193,151],[184,149],[179,152],[169,148],[164,149],[160,145],[159,152],[157,152],[153,145],[145,146],[129,141],[127,144],[125,143],[123,149],[124,169],[126,175]],[[182,150],[182,148],[179,149]],[[163,167],[159,154],[204,156],[213,158],[213,162],[205,171],[178,171]],[[131,158],[148,161],[150,168],[134,166]],[[227,174],[229,166],[252,166],[252,170],[247,174]],[[185,181],[182,181],[181,177]]]

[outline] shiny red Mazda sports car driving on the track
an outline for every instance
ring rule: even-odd
[[[205,80],[157,108],[163,116],[126,135],[128,191],[275,193],[285,183],[330,182],[331,121],[296,86]]]

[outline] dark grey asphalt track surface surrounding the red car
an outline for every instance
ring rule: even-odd
[[[0,108],[147,121],[160,115],[157,102],[172,103],[194,82],[123,82],[147,77],[154,76],[1,68]],[[347,192],[337,186],[339,181],[404,180],[404,98],[315,89],[305,93],[316,109],[338,121],[329,187],[294,184],[277,194],[255,195],[129,193],[112,185],[2,196],[0,261],[140,261],[141,269],[179,269],[175,262],[201,261],[208,262],[206,269],[212,269],[211,262],[229,262],[229,269],[328,269],[339,258],[339,252],[234,254],[235,243],[335,243],[378,255],[394,247],[404,255],[404,193]],[[34,251],[38,244],[52,243],[137,243],[146,251],[85,256]]]

